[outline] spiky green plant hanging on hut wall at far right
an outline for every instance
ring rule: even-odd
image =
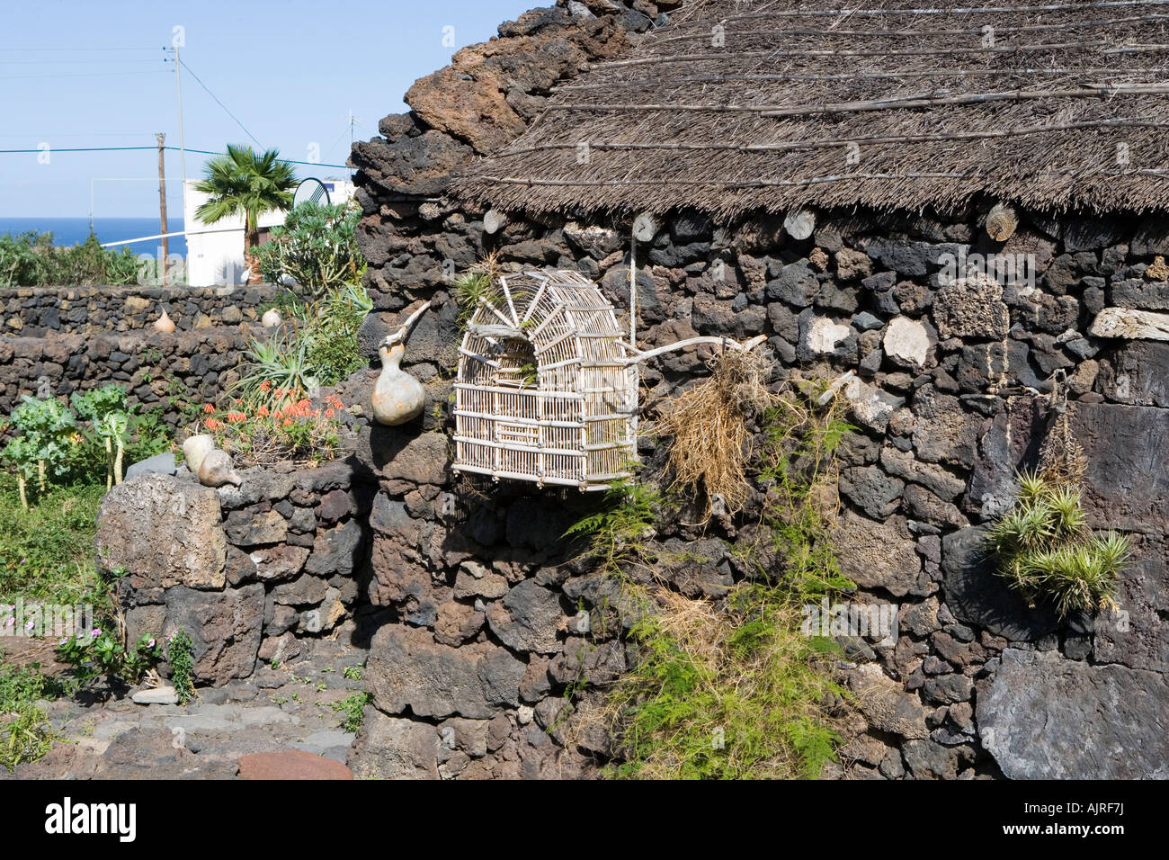
[[[1031,606],[1050,600],[1060,617],[1115,608],[1116,580],[1132,557],[1129,538],[1092,534],[1073,486],[1039,472],[1024,472],[1018,482],[1015,507],[989,532],[999,576]]]

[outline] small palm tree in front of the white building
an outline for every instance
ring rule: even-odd
[[[260,266],[254,253],[260,243],[256,219],[261,212],[284,212],[292,207],[295,170],[289,161],[281,160],[279,150],[268,150],[257,157],[250,146],[233,144],[228,144],[227,154],[209,159],[206,170],[207,176],[195,183],[195,191],[210,194],[210,199],[195,209],[195,218],[215,223],[243,215],[243,262],[251,271],[248,282],[258,283]]]

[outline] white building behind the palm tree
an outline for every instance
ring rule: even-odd
[[[226,218],[206,225],[195,216],[208,194],[195,191],[194,179],[187,180],[182,195],[182,225],[187,233],[187,283],[192,287],[214,287],[243,283],[243,216]],[[355,186],[348,179],[321,179],[328,192],[328,202],[344,204],[353,199]],[[321,200],[320,202],[324,202]],[[265,212],[257,220],[260,241],[267,231],[284,223],[284,212]]]

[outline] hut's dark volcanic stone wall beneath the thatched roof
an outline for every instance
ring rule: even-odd
[[[388,241],[433,253],[465,248],[468,257],[496,250],[514,269],[577,269],[596,278],[617,308],[628,307],[628,233],[604,223],[513,219],[490,236],[482,213],[450,206],[443,232],[407,219],[390,227]],[[1035,216],[997,245],[982,231],[987,208],[947,220],[821,213],[802,242],[784,235],[777,219],[734,227],[693,213],[664,219],[653,241],[638,249],[645,261],[637,271],[639,345],[767,335],[776,384],[793,377],[839,383],[857,431],[842,447],[836,549],[858,585],[850,601],[891,605],[899,619],[892,640],[841,638],[846,661],[838,672],[864,717],[841,772],[1157,773],[1165,742],[1147,727],[1169,701],[1161,535],[1169,475],[1155,454],[1169,432],[1169,346],[1098,338],[1092,323],[1106,307],[1156,311],[1169,304],[1169,273],[1158,259],[1169,250],[1165,226],[1157,219]],[[1004,259],[1017,266],[996,269]],[[974,267],[970,277],[953,277],[960,260]],[[459,336],[442,273],[440,264],[408,281],[387,261],[374,274],[401,284],[395,295],[402,305],[435,303],[408,357],[411,371],[431,380],[440,408],[448,401],[445,363]],[[396,317],[382,316],[367,324],[371,346]],[[663,398],[704,374],[703,358],[680,352],[645,365],[643,414],[652,417]],[[1058,619],[1047,607],[1028,607],[984,558],[987,521],[1011,504],[1015,469],[1035,462],[1056,373],[1066,380],[1072,426],[1088,454],[1090,524],[1132,531],[1137,545],[1120,613]],[[462,487],[440,475],[441,435],[375,433],[383,441],[372,440],[371,456],[385,466],[372,522],[371,597],[407,624],[386,625],[373,640],[365,755],[389,768],[386,757],[397,754],[387,744],[396,749],[410,738],[416,749],[429,737],[420,722],[433,727],[458,715],[509,720],[520,732],[509,738],[523,765],[530,761],[524,744],[537,734],[523,731],[525,707],[533,708],[537,725],[562,737],[574,725],[561,713],[568,707],[563,690],[604,683],[629,665],[617,634],[628,619],[610,617],[616,596],[586,563],[568,560],[572,548],[560,538],[587,502],[523,484]],[[400,474],[395,453],[416,446],[430,452],[419,461],[430,473],[424,493]],[[662,465],[663,450],[643,442],[643,455],[651,467]],[[450,505],[457,525],[442,515]],[[724,594],[747,573],[732,548],[752,538],[754,518],[758,509],[706,530],[685,525],[687,516],[658,523],[657,545],[699,559],[665,571],[666,579],[692,597]],[[779,559],[772,572],[782,572]],[[574,632],[581,610],[593,615],[586,637]],[[1037,723],[1037,713],[1046,720]],[[573,763],[566,773],[590,772],[582,755],[608,754],[595,731],[583,737],[556,750],[558,768]],[[1122,743],[1128,751],[1086,756],[1086,742],[1099,749]],[[420,768],[430,772],[426,761]],[[549,759],[532,761],[539,764],[520,772],[549,766]],[[466,772],[512,773],[511,762],[489,755]]]

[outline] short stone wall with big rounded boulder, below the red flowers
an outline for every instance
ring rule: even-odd
[[[303,637],[352,637],[368,578],[373,490],[351,465],[248,469],[214,490],[180,469],[119,484],[102,502],[103,565],[124,569],[126,628],[191,633],[200,683],[288,662]]]

